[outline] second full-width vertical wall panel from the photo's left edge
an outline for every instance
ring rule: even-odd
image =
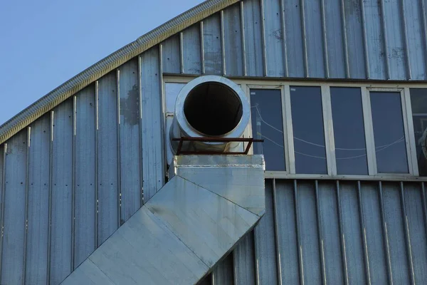
[[[31,124],[28,149],[28,233],[26,284],[46,284],[48,267],[50,114]]]

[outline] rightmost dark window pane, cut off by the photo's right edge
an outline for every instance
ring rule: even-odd
[[[427,130],[427,89],[411,89],[411,105],[418,172],[427,176],[427,149],[423,150],[422,146],[423,135]]]

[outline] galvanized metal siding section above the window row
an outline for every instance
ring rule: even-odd
[[[227,76],[425,80],[425,6],[408,0],[246,0],[187,28],[181,41],[176,36],[164,41],[163,69]],[[178,53],[179,69],[178,59],[172,59]]]

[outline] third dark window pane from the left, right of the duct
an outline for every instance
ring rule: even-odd
[[[337,174],[368,175],[360,88],[330,90]]]

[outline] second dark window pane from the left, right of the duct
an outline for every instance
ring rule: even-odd
[[[327,174],[320,87],[290,87],[297,173]]]

